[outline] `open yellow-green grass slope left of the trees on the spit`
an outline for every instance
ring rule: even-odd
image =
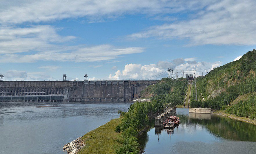
[[[86,146],[79,151],[82,153],[116,153],[122,144],[122,133],[116,133],[115,128],[122,118],[110,120],[108,123],[83,135],[82,140]],[[96,122],[96,121],[95,121]]]

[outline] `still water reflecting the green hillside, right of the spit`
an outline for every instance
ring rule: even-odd
[[[256,126],[211,114],[177,109],[181,119],[173,130],[154,127],[139,138],[150,153],[256,153]]]

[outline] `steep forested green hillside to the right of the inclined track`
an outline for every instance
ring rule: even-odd
[[[226,112],[238,116],[248,117],[255,114],[256,118],[256,50],[249,51],[241,59],[230,62],[210,71],[204,78],[197,78],[197,98],[195,101],[195,84],[193,83],[191,95],[191,107],[204,107],[212,109],[225,109],[229,103],[237,97],[247,93],[248,99],[236,102],[234,112],[227,109]],[[202,96],[206,101],[203,101]],[[244,97],[243,96],[243,97]],[[231,108],[231,107],[230,107]],[[239,112],[244,112],[241,115]],[[252,118],[252,116],[251,116]]]

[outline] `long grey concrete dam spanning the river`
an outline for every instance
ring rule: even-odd
[[[0,102],[131,101],[157,80],[0,81]]]

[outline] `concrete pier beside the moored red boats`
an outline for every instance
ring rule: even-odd
[[[165,108],[165,112],[155,117],[155,126],[162,126],[168,116],[173,116],[176,113],[176,107]]]

